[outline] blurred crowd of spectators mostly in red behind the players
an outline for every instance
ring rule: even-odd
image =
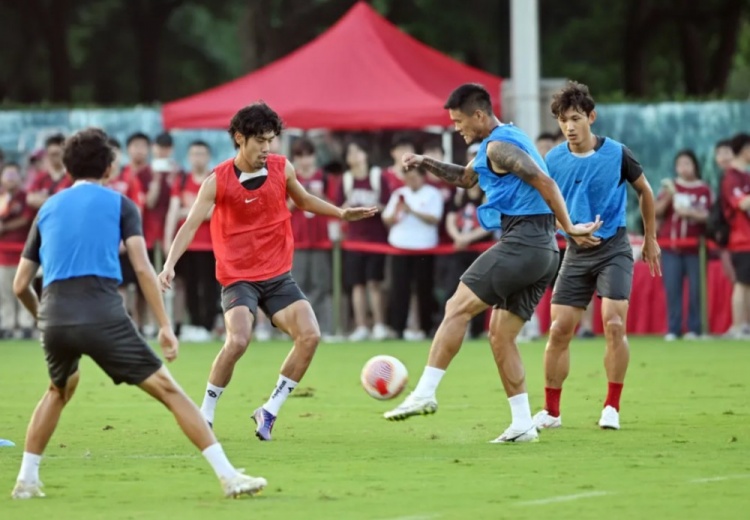
[[[536,139],[542,156],[562,142],[560,133],[542,133]],[[33,335],[34,321],[14,298],[12,280],[36,211],[48,197],[71,186],[62,163],[64,143],[64,135],[52,134],[45,138],[43,148],[21,163],[0,161],[3,338]],[[158,270],[201,183],[224,157],[215,157],[211,147],[200,140],[189,143],[185,156],[176,157],[169,133],[151,137],[136,132],[122,143],[112,139],[111,145],[118,153],[107,184],[141,209],[146,243]],[[477,149],[476,144],[469,146],[456,162],[468,163]],[[276,151],[280,151],[278,143]],[[404,171],[401,158],[409,152],[444,159],[441,141],[418,132],[390,133],[380,136],[379,143],[358,135],[291,141],[288,158],[308,191],[337,205],[372,204],[381,209],[374,219],[342,226],[301,212],[289,202],[296,244],[293,276],[310,299],[328,341],[343,339],[342,332],[353,342],[430,337],[462,272],[498,238],[481,229],[476,219],[476,209],[483,203],[478,186],[464,190],[424,171]],[[732,325],[725,334],[750,337],[750,135],[717,142],[713,159],[720,172],[715,186],[703,180],[701,161],[692,150],[677,151],[671,175],[654,186],[667,302],[667,329],[659,332],[670,340],[698,338],[707,332],[700,316],[701,269],[705,265],[699,261],[697,239],[707,236],[707,223],[712,218],[723,219],[729,228],[728,239],[722,244],[726,249],[709,252],[709,258],[721,260],[725,276],[734,284]],[[633,234],[637,235],[637,230]],[[681,239],[696,241],[679,242]],[[344,246],[341,269],[334,268],[332,256],[337,244]],[[633,244],[637,254],[636,236]],[[562,255],[562,240],[560,245]],[[151,335],[154,328],[132,268],[126,257],[121,262],[124,301],[144,334]],[[223,334],[220,287],[214,270],[207,220],[177,266],[170,297],[183,340],[205,341]],[[343,288],[338,309],[333,299],[337,283]],[[594,336],[593,308],[589,306],[583,320],[581,337]],[[337,312],[340,320],[334,319]],[[485,322],[486,316],[478,316],[467,335],[482,335]],[[522,336],[533,339],[542,332],[539,320],[532,319]],[[269,339],[275,333],[260,316],[256,339]]]

